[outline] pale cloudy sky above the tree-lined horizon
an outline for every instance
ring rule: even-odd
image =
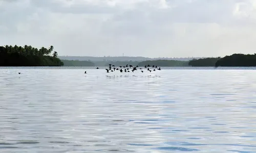
[[[59,56],[256,53],[255,0],[0,0],[0,45]]]

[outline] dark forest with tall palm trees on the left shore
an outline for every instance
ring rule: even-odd
[[[58,53],[53,52],[53,48],[0,46],[0,66],[62,66],[63,62],[57,58]]]

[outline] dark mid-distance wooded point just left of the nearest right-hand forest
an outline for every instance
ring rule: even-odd
[[[205,58],[205,59],[193,59],[188,62],[189,66],[215,66],[215,63],[220,60],[221,58]]]

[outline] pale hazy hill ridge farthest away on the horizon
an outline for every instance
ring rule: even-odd
[[[175,60],[175,61],[190,61],[200,58],[145,58],[145,57],[90,57],[90,56],[58,56],[61,60],[78,60],[78,61],[155,61],[155,60]]]

